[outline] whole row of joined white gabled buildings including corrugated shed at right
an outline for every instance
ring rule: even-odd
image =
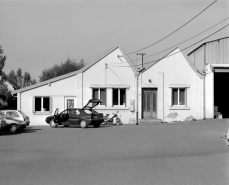
[[[221,83],[229,77],[228,43],[228,37],[204,43],[189,56],[177,48],[139,75],[122,48],[114,47],[76,72],[12,94],[17,94],[18,109],[28,114],[31,125],[45,125],[56,108],[81,108],[91,98],[103,101],[97,111],[104,115],[119,110],[124,124],[214,118],[214,108],[229,117],[229,96]]]

